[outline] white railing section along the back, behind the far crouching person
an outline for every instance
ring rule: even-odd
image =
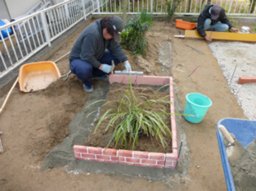
[[[173,4],[172,0],[127,0],[127,14],[138,14],[145,8],[154,15],[167,13],[167,1]],[[211,0],[211,4],[219,4],[225,8],[228,16],[256,16],[256,0]],[[102,12],[92,14],[112,14],[122,12],[122,0],[109,0],[103,6]],[[207,0],[183,0],[178,4],[175,15],[199,15],[206,6]]]

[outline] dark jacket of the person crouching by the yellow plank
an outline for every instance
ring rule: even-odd
[[[206,32],[205,30],[203,30],[203,26],[205,24],[205,21],[207,18],[211,19],[211,14],[209,13],[209,9],[212,7],[213,5],[206,5],[206,7],[204,8],[204,10],[202,10],[200,16],[198,17],[197,20],[197,32],[199,33],[199,35],[201,35],[202,37],[206,36]],[[229,28],[232,27],[232,24],[230,23],[230,21],[228,20],[228,17],[225,15],[225,9],[221,8],[220,11],[220,16],[219,18],[217,18],[216,20],[211,20],[211,26],[213,26],[214,24],[216,24],[218,21],[220,21],[221,23],[224,23],[226,25],[229,26]]]

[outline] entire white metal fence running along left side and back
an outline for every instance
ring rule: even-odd
[[[218,3],[229,16],[256,16],[254,1],[256,0],[216,0],[211,4]],[[40,49],[50,46],[59,35],[86,19],[88,15],[121,13],[122,2],[123,0],[69,0],[0,26],[0,78]],[[178,5],[175,14],[199,15],[205,5],[206,0],[184,0]],[[164,15],[167,2],[129,0],[126,12],[138,14],[143,8],[154,15]]]

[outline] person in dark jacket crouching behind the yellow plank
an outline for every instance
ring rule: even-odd
[[[198,34],[211,42],[211,38],[206,35],[205,30],[221,32],[228,29],[238,32],[225,15],[225,9],[220,7],[218,4],[206,5],[197,20]]]

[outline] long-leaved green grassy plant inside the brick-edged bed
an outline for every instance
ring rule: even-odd
[[[154,91],[154,95],[165,86]],[[111,142],[114,142],[115,146],[120,144],[125,149],[127,146],[131,146],[132,150],[134,150],[135,144],[139,142],[142,136],[155,138],[164,148],[167,146],[165,139],[171,139],[172,135],[169,129],[170,113],[159,105],[171,105],[172,103],[168,99],[169,95],[158,100],[152,100],[154,95],[150,95],[147,98],[143,95],[143,92],[141,91],[140,95],[136,96],[132,84],[129,82],[126,94],[116,95],[114,100],[97,100],[91,104],[104,101],[102,107],[104,105],[112,105],[112,103],[116,105],[115,108],[103,110],[102,116],[97,119],[97,125],[94,130],[94,133],[96,133],[102,121],[108,120],[106,132],[113,129],[113,133],[107,143],[107,147]]]

